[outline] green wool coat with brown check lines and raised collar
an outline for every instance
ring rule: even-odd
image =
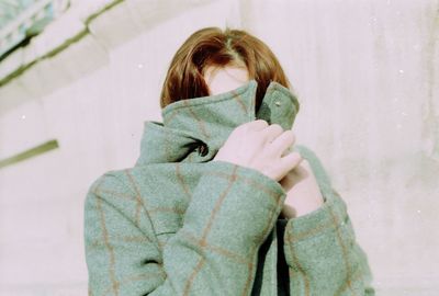
[[[347,204],[316,155],[324,204],[281,215],[286,193],[251,168],[211,161],[234,128],[263,118],[291,129],[299,101],[272,81],[258,112],[257,82],[162,109],[145,122],[133,168],[100,175],[85,200],[89,295],[374,295]]]

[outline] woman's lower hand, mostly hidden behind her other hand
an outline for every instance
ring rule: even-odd
[[[306,159],[303,159],[279,183],[286,192],[282,215],[288,219],[313,212],[324,203],[320,189]]]

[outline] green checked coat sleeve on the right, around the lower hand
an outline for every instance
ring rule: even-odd
[[[296,148],[308,160],[325,202],[286,223],[283,240],[290,295],[375,295],[368,257],[356,241],[346,202],[316,155],[305,146]]]

